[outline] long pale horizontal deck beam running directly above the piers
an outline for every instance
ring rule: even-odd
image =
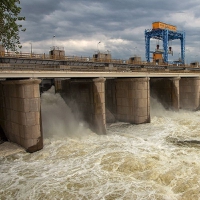
[[[199,77],[200,73],[184,72],[83,72],[83,71],[16,71],[0,70],[0,78],[139,78],[139,77]]]

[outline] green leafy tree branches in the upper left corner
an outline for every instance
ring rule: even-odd
[[[19,32],[25,31],[18,23],[25,20],[20,17],[20,0],[0,0],[0,42],[7,50],[21,48]]]

